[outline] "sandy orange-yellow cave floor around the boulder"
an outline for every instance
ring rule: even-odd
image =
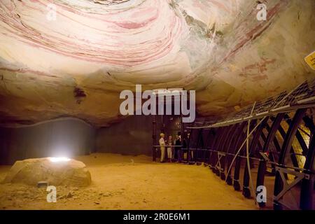
[[[0,209],[257,209],[207,167],[152,162],[145,155],[75,159],[87,165],[90,186],[57,186],[57,202],[48,203],[45,188],[1,183]],[[0,166],[0,181],[9,169]]]

